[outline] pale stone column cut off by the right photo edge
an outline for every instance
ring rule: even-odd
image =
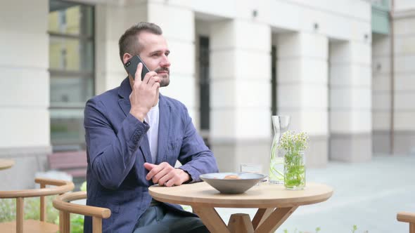
[[[415,154],[415,3],[396,1],[394,36],[393,153]]]

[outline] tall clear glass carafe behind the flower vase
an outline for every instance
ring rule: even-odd
[[[272,140],[271,155],[269,159],[269,182],[282,185],[284,182],[284,157],[278,145],[281,135],[288,131],[290,116],[272,116],[274,139]]]

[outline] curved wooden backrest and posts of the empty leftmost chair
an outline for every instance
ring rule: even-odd
[[[34,182],[40,185],[40,189],[24,189],[13,191],[0,191],[0,199],[16,199],[16,232],[23,232],[24,204],[26,197],[40,197],[40,221],[46,220],[46,201],[45,196],[63,194],[72,191],[75,185],[66,180],[53,180],[46,178],[36,178]],[[55,187],[47,187],[53,185]]]

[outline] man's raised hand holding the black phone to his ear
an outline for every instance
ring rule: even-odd
[[[129,112],[140,121],[144,121],[148,111],[155,105],[158,98],[158,88],[160,88],[160,77],[157,76],[156,72],[148,72],[141,81],[142,69],[143,64],[140,62],[134,77],[132,93],[129,95],[129,101],[131,102]]]

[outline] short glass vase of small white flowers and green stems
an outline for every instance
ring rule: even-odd
[[[284,155],[284,185],[287,188],[305,186],[304,150],[307,149],[309,138],[306,133],[287,131],[281,137],[279,149]]]

